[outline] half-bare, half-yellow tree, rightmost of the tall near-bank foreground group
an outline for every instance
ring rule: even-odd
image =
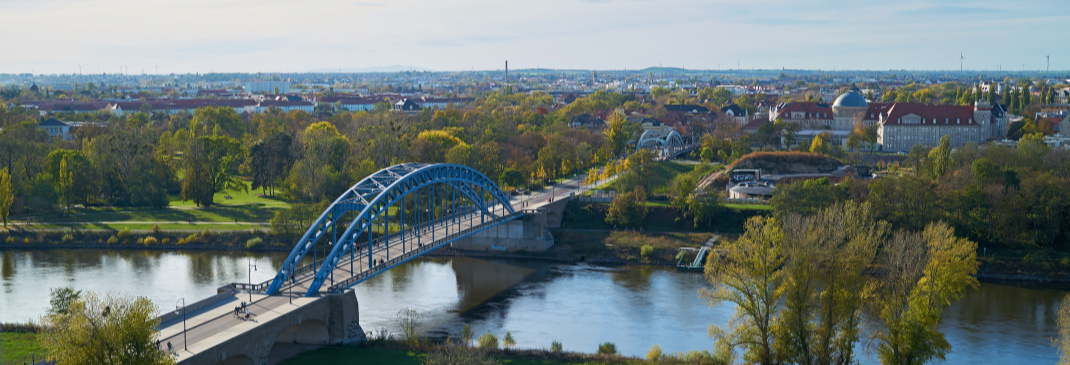
[[[977,244],[932,223],[920,233],[897,232],[878,257],[885,274],[870,313],[881,363],[943,361],[951,346],[936,325],[950,303],[977,286]]]

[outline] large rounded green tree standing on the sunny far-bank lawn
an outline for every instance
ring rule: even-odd
[[[242,145],[227,136],[198,137],[185,154],[186,176],[182,181],[182,199],[197,206],[211,207],[215,193],[246,191],[234,169],[242,161]]]

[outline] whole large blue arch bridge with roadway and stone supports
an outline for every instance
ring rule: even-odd
[[[268,364],[277,360],[273,353],[284,351],[279,348],[293,344],[360,343],[364,331],[349,288],[452,243],[548,248],[552,237],[546,223],[560,222],[566,197],[585,189],[580,179],[560,183],[552,193],[510,200],[492,180],[465,166],[384,168],[331,203],[273,279],[231,284],[164,314],[160,341],[172,346],[181,364]],[[242,302],[248,302],[248,315]]]

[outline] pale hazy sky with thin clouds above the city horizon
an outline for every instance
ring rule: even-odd
[[[0,0],[0,73],[1070,70],[1070,1]]]

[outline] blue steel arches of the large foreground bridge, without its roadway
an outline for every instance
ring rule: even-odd
[[[473,186],[479,187],[483,192],[489,193],[493,200],[501,203],[508,214],[515,213],[509,203],[508,196],[498,187],[496,184],[482,172],[461,165],[453,164],[401,164],[395,165],[372,173],[361,180],[345,194],[336,199],[323,214],[308,228],[305,234],[297,241],[297,245],[287,257],[279,272],[275,275],[268,293],[278,292],[288,277],[291,277],[301,259],[307,256],[315,243],[327,231],[328,228],[337,226],[338,217],[346,213],[358,213],[346,229],[346,232],[337,237],[338,242],[333,243],[331,254],[323,260],[323,265],[317,270],[316,277],[307,292],[312,295],[319,291],[323,282],[342,255],[351,250],[355,239],[364,233],[371,223],[374,222],[389,207],[398,200],[409,196],[422,187],[433,184],[446,184],[464,195],[474,206],[484,213],[493,216],[488,210],[486,202]],[[370,256],[370,255],[369,255]]]

